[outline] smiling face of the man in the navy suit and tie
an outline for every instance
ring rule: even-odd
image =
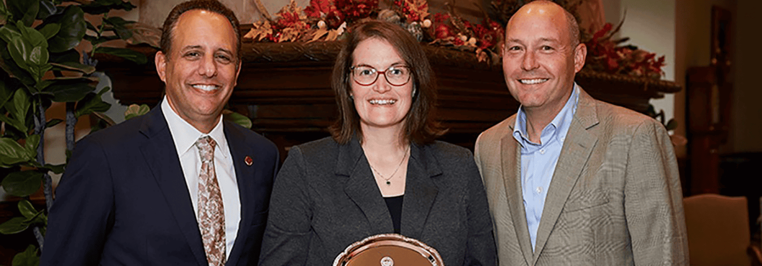
[[[191,10],[171,38],[168,54],[156,54],[156,69],[174,112],[200,129],[219,117],[238,79],[235,32],[221,14]]]

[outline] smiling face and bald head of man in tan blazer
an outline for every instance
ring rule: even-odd
[[[563,9],[542,2],[525,5],[508,22],[503,74],[525,110],[558,111],[568,99],[587,52],[584,44],[574,45],[569,31]]]

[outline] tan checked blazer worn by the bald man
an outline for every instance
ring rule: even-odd
[[[533,252],[515,119],[484,131],[475,147],[500,265],[687,265],[677,161],[663,126],[581,90]]]

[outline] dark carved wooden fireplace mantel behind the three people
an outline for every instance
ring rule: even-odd
[[[253,130],[279,146],[327,136],[325,128],[336,112],[331,68],[340,47],[338,42],[243,43],[231,106],[251,118]],[[136,49],[153,61],[154,49]],[[472,52],[434,46],[424,50],[439,87],[437,117],[450,128],[444,140],[472,147],[479,132],[516,112],[518,103],[507,90],[500,65],[479,62]],[[121,103],[152,106],[161,98],[163,84],[152,63],[137,66],[106,56],[100,60]],[[680,90],[671,81],[588,71],[578,73],[576,81],[597,99],[639,112],[648,109],[648,100]]]

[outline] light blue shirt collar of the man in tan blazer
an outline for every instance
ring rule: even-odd
[[[542,145],[546,144],[550,138],[556,138],[563,142],[563,138],[565,138],[566,132],[568,132],[569,125],[571,125],[571,119],[574,118],[574,114],[577,111],[580,91],[578,87],[579,86],[575,82],[571,90],[571,96],[566,100],[564,107],[555,115],[555,118],[553,118],[550,124],[543,128],[542,135],[540,136]],[[527,113],[523,111],[523,106],[519,106],[516,113],[513,135],[522,147],[526,147],[527,145],[525,144],[533,144],[533,142],[529,141],[527,136]]]

